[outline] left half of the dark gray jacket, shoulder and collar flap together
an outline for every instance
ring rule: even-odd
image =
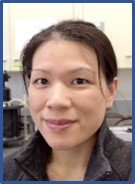
[[[45,163],[44,160],[48,158],[48,150],[47,143],[39,132],[36,132],[22,148],[3,159],[3,180],[40,179],[40,170]]]

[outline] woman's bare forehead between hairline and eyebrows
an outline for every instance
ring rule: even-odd
[[[97,56],[92,48],[74,41],[55,40],[43,43],[33,56],[33,69],[87,67],[98,71]]]

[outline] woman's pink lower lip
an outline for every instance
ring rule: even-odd
[[[53,124],[53,123],[46,123],[47,126],[53,130],[53,131],[63,131],[68,129],[69,127],[71,127],[73,125],[73,123],[66,123],[66,124]]]

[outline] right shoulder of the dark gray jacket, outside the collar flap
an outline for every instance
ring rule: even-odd
[[[121,180],[130,180],[132,169],[132,144],[117,138],[110,131],[104,149],[113,173],[118,175]]]

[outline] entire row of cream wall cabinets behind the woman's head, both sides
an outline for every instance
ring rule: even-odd
[[[103,22],[119,68],[132,67],[132,3],[4,3],[3,12],[6,70],[20,70],[19,44],[28,34],[27,30],[34,34],[33,22],[41,26],[48,21],[63,19],[83,19],[96,24]]]

